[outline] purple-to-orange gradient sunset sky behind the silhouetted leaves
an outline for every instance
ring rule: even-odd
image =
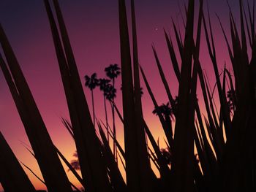
[[[99,77],[105,77],[105,66],[113,63],[120,64],[118,1],[59,0],[59,2],[64,14],[64,20],[67,24],[82,82],[84,83],[83,76],[85,74],[91,75],[93,72],[97,72]],[[181,14],[178,9],[178,0],[141,0],[135,1],[135,5],[138,24],[140,64],[146,72],[148,81],[159,104],[166,103],[167,96],[165,95],[165,89],[154,62],[151,44],[154,42],[157,48],[170,89],[173,95],[176,95],[178,92],[177,81],[170,63],[162,28],[170,31],[173,37],[173,28],[170,25],[171,18],[173,18],[173,20],[180,24],[183,31]],[[196,5],[196,9],[198,9],[198,4],[196,3]],[[230,2],[230,5],[235,12],[235,18],[238,18],[238,1]],[[184,13],[184,3],[181,1],[180,7],[182,13]],[[230,65],[226,45],[215,12],[219,15],[223,25],[228,31],[228,9],[225,0],[209,1],[209,7],[214,28],[214,37],[216,39],[219,71],[221,71],[225,61],[227,62],[227,68],[230,68]],[[128,16],[129,15],[128,12]],[[197,20],[197,18],[195,20]],[[65,102],[59,66],[56,61],[43,1],[1,0],[0,22],[7,33],[7,37],[10,39],[26,80],[29,82],[29,86],[42,114],[42,118],[45,120],[50,137],[67,159],[71,160],[72,154],[75,152],[75,145],[60,120],[61,117],[68,118],[67,104]],[[208,72],[208,77],[213,86],[215,81],[212,73],[213,67],[208,57],[204,33],[202,35],[201,47],[200,60],[202,61],[202,67]],[[121,109],[120,79],[119,77],[117,82],[118,96],[116,103]],[[143,88],[145,87],[143,83],[142,86]],[[91,107],[91,95],[86,88],[85,93],[89,107]],[[198,98],[200,101],[200,94]],[[97,118],[104,120],[104,110],[102,107],[103,98],[102,93],[99,91],[95,92],[95,101]],[[161,143],[163,143],[163,133],[159,128],[158,119],[151,114],[153,109],[151,99],[144,88],[144,116],[148,125],[151,127],[154,137],[156,139],[159,137]],[[12,101],[7,83],[1,72],[0,131],[4,134],[4,137],[7,139],[7,142],[10,144],[10,147],[12,147],[18,159],[39,174],[36,161],[20,144],[20,141],[26,142],[27,144],[29,144],[29,141],[26,137],[23,125],[20,122],[15,104]],[[120,140],[121,143],[123,143],[124,140],[120,122],[118,123],[118,140]],[[164,145],[162,145],[162,147],[164,147]],[[67,170],[67,167],[65,167],[65,169]],[[29,172],[27,173],[36,188],[45,188],[34,176]],[[68,175],[71,180],[77,184],[72,174],[68,173]]]

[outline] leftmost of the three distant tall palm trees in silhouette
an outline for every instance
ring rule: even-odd
[[[97,74],[91,74],[91,77],[86,75],[85,77],[86,80],[86,87],[88,87],[91,90],[91,100],[92,100],[92,112],[94,115],[94,127],[95,127],[95,110],[94,110],[94,88],[99,85],[99,80],[97,79]]]

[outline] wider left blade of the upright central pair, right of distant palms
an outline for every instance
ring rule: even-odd
[[[135,122],[135,103],[132,82],[132,61],[130,55],[127,10],[124,0],[118,0],[119,32],[121,48],[121,82],[124,112],[124,143],[126,155],[127,190],[142,191],[141,172],[138,157],[138,141]]]

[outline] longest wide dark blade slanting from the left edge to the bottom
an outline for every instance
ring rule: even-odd
[[[0,42],[4,50],[7,64],[10,68],[12,78],[20,96],[20,101],[16,101],[18,108],[20,105],[20,118],[27,129],[27,134],[31,146],[37,156],[37,161],[45,179],[49,191],[71,191],[67,175],[59,161],[58,155],[53,147],[53,142],[50,139],[45,123],[37,108],[37,104],[29,89],[23,72],[20,69],[18,60],[12,50],[3,28],[0,26]],[[10,74],[9,74],[10,76]],[[8,80],[7,80],[8,81]],[[9,82],[10,84],[10,82]],[[18,100],[18,96],[16,100]],[[25,120],[26,119],[26,120]],[[49,165],[48,162],[51,162]]]

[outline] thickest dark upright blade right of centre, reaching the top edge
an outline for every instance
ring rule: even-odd
[[[192,115],[192,107],[189,109],[191,99],[188,99],[190,98],[192,72],[194,4],[195,1],[189,1],[181,63],[181,81],[178,88],[178,110],[172,164],[174,191],[193,191],[194,188],[194,166],[192,164],[194,158],[194,126],[192,125],[194,122],[189,120],[189,115]],[[192,125],[189,124],[191,122]]]

